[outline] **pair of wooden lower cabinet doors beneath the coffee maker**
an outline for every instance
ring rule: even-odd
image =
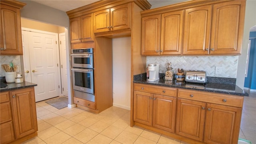
[[[134,121],[174,132],[176,98],[134,91]]]

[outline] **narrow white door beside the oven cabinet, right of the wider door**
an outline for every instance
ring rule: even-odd
[[[67,60],[66,60],[66,35],[65,32],[59,34],[59,46],[60,46],[60,64],[61,64],[61,89],[62,95],[68,96],[68,74],[67,74]]]

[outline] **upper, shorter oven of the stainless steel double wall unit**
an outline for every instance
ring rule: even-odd
[[[72,49],[73,68],[93,68],[93,48]]]

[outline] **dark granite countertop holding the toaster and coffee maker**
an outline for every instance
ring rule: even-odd
[[[204,92],[215,92],[220,94],[232,94],[236,96],[248,96],[248,93],[246,93],[244,90],[236,86],[236,84],[222,84],[222,83],[212,83],[207,82],[206,84],[195,84],[195,83],[189,83],[185,81],[177,81],[177,80],[164,80],[164,78],[160,78],[159,80],[155,82],[148,82],[147,78],[142,77],[134,77],[134,83],[138,84],[150,84],[150,85],[156,85],[156,86],[167,86],[167,87],[173,87],[173,88],[183,88],[183,89],[189,89],[189,90],[198,90],[198,91],[204,91]]]

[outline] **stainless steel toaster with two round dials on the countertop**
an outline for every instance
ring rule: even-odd
[[[206,83],[206,72],[203,70],[188,70],[185,76],[186,82],[192,83]]]

